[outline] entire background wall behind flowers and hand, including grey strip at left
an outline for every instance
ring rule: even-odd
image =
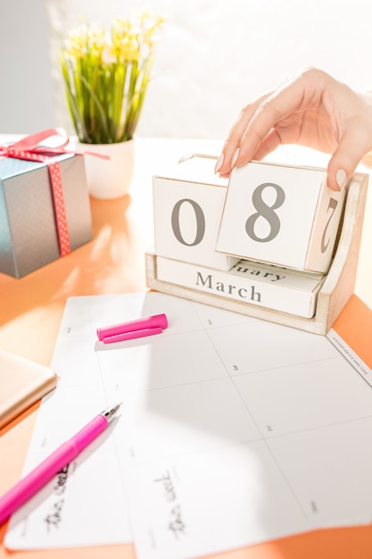
[[[372,85],[369,0],[0,0],[1,131],[70,129],[62,34],[142,7],[169,21],[140,136],[224,138],[243,104],[307,64]]]

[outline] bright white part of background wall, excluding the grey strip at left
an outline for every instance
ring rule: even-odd
[[[54,39],[80,16],[147,5],[169,16],[138,134],[224,138],[240,107],[306,64],[372,84],[369,0],[49,0]],[[52,45],[55,59],[56,40]],[[60,79],[55,74],[55,90]],[[58,118],[63,106],[58,105]]]

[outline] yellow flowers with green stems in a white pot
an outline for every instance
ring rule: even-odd
[[[86,158],[92,196],[125,194],[125,188],[123,191],[119,185],[110,194],[109,179],[111,174],[119,177],[114,169],[116,161],[125,164],[122,149],[133,160],[133,138],[163,21],[161,16],[143,12],[115,18],[108,31],[103,25],[82,24],[64,38],[60,51],[62,77],[79,143],[83,151],[110,155],[110,166],[103,159]],[[97,174],[101,167],[103,174]],[[127,162],[127,183],[132,169],[133,161]]]

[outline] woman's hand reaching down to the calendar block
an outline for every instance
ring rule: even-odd
[[[357,93],[315,68],[247,104],[230,130],[215,171],[262,159],[280,144],[300,144],[333,154],[328,187],[341,190],[372,149],[372,95]]]

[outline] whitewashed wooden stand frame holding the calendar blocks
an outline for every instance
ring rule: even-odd
[[[146,285],[163,293],[180,296],[197,303],[217,306],[227,311],[285,324],[315,334],[327,334],[343,307],[349,301],[355,285],[360,238],[366,205],[368,175],[355,173],[347,185],[343,218],[338,230],[335,254],[326,280],[318,292],[316,311],[306,319],[289,313],[280,313],[267,307],[235,301],[226,296],[204,293],[157,279],[156,254],[146,253]]]

